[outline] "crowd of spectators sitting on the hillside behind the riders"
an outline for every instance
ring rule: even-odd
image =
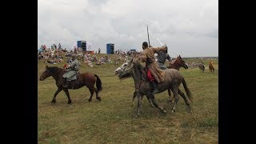
[[[104,63],[114,62],[116,65],[120,65],[130,58],[139,58],[139,55],[142,54],[141,51],[135,50],[115,50],[114,55],[116,56],[112,61],[108,56],[97,57],[96,54],[91,54],[87,52],[83,52],[81,48],[74,47],[71,50],[66,50],[66,48],[62,48],[62,45],[59,43],[58,46],[53,44],[50,47],[46,47],[46,45],[42,45],[38,50],[38,60],[42,60],[46,64],[58,64],[58,63],[71,63],[72,58],[71,55],[76,54],[78,56],[78,61],[84,63],[88,66],[95,65],[103,65]],[[98,48],[98,54],[100,54],[100,48]],[[65,58],[64,58],[65,57]],[[155,57],[157,59],[157,57]],[[64,62],[65,60],[65,62]],[[93,64],[94,63],[94,64]]]

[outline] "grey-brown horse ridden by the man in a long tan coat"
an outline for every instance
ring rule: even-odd
[[[178,70],[174,69],[166,69],[165,70],[165,80],[164,82],[158,83],[158,90],[159,93],[165,90],[172,90],[174,93],[174,106],[172,108],[172,112],[176,110],[176,105],[178,103],[178,89],[179,86],[182,84],[186,91],[186,94],[190,101],[192,101],[192,95],[190,90],[186,86],[186,81],[183,76],[179,73]],[[134,78],[134,85],[135,85],[135,92],[138,98],[138,113],[137,116],[140,114],[141,104],[142,104],[142,95],[146,95],[147,98],[150,98],[151,102],[153,102],[154,106],[161,110],[163,113],[166,113],[166,110],[163,110],[155,101],[154,95],[151,93],[152,86],[150,86],[150,82],[146,81],[146,72],[142,65],[139,62],[127,62],[127,65],[124,67],[124,70],[118,75],[120,79],[123,78]]]

